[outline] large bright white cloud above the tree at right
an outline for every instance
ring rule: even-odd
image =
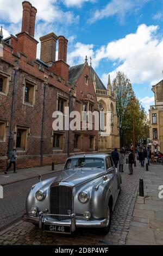
[[[158,39],[158,26],[140,25],[136,33],[128,34],[125,38],[110,42],[102,58],[119,62],[111,76],[117,71],[126,74],[132,83],[151,83],[162,79],[163,67],[163,38]],[[108,74],[102,79],[106,80]]]

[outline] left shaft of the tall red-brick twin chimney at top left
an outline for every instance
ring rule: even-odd
[[[23,5],[23,17],[22,17],[22,32],[29,33],[30,26],[30,11],[32,8],[32,4],[28,1],[24,1]]]

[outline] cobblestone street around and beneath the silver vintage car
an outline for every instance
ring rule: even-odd
[[[34,227],[33,224],[17,222],[0,233],[1,245],[125,245],[129,226],[132,220],[134,205],[137,196],[139,179],[145,169],[134,168],[134,175],[128,175],[128,166],[125,164],[122,174],[122,192],[118,197],[112,216],[111,229],[108,235],[100,235],[97,229],[77,229],[72,235],[55,235],[45,233]],[[37,179],[19,182],[17,185],[5,187],[1,200],[1,225],[14,220],[19,212],[22,215],[28,190]],[[5,211],[4,211],[5,209]],[[6,220],[7,219],[7,220]]]

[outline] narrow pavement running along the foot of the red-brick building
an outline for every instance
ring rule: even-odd
[[[7,175],[4,175],[4,173],[0,173],[0,185],[9,185],[18,181],[33,179],[39,175],[51,174],[62,170],[64,168],[64,165],[65,164],[56,164],[54,167],[54,171],[52,170],[52,166],[42,166],[16,170],[16,174],[14,174],[13,172],[8,172]]]

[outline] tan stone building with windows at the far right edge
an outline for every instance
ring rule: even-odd
[[[155,105],[149,110],[150,145],[152,151],[163,152],[163,80],[152,87]]]

